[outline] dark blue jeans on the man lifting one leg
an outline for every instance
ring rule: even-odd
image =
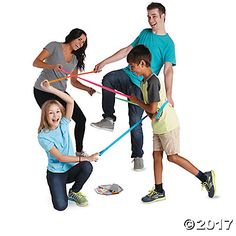
[[[135,84],[133,84],[129,76],[122,70],[111,71],[106,74],[102,80],[102,84],[106,87],[116,89],[124,94],[135,96],[142,100],[141,90]],[[128,103],[128,115],[130,127],[137,123],[143,115],[143,109],[139,106]],[[114,121],[116,116],[114,115],[115,109],[115,94],[105,89],[102,90],[102,108],[103,118],[110,117]],[[131,131],[131,157],[142,157],[143,156],[143,130],[142,124],[137,126]]]

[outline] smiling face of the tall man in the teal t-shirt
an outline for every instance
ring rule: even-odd
[[[152,28],[152,31],[156,32],[160,26],[163,25],[165,20],[165,14],[160,15],[157,8],[148,10],[148,23]]]

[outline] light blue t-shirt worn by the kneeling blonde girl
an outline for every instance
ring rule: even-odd
[[[66,156],[75,156],[74,148],[69,134],[70,121],[62,117],[59,126],[55,130],[42,130],[38,134],[38,141],[48,156],[48,170],[54,173],[64,173],[76,163],[60,162],[50,154],[55,146],[60,153]]]

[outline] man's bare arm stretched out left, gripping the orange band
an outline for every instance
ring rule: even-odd
[[[116,53],[111,55],[110,57],[108,57],[108,58],[104,59],[103,61],[101,61],[100,63],[98,63],[95,66],[94,70],[96,72],[99,72],[99,71],[102,70],[102,68],[105,65],[110,64],[110,63],[115,62],[115,61],[119,61],[119,60],[125,58],[128,55],[128,53],[131,51],[132,48],[133,48],[133,46],[129,45],[125,48],[120,49],[119,51],[117,51]]]

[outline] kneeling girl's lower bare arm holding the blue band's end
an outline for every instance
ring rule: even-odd
[[[55,146],[53,146],[49,152],[51,155],[53,155],[60,162],[81,162],[81,161],[92,162],[92,161],[98,160],[98,153],[94,153],[88,157],[65,156],[62,153],[60,153]]]

